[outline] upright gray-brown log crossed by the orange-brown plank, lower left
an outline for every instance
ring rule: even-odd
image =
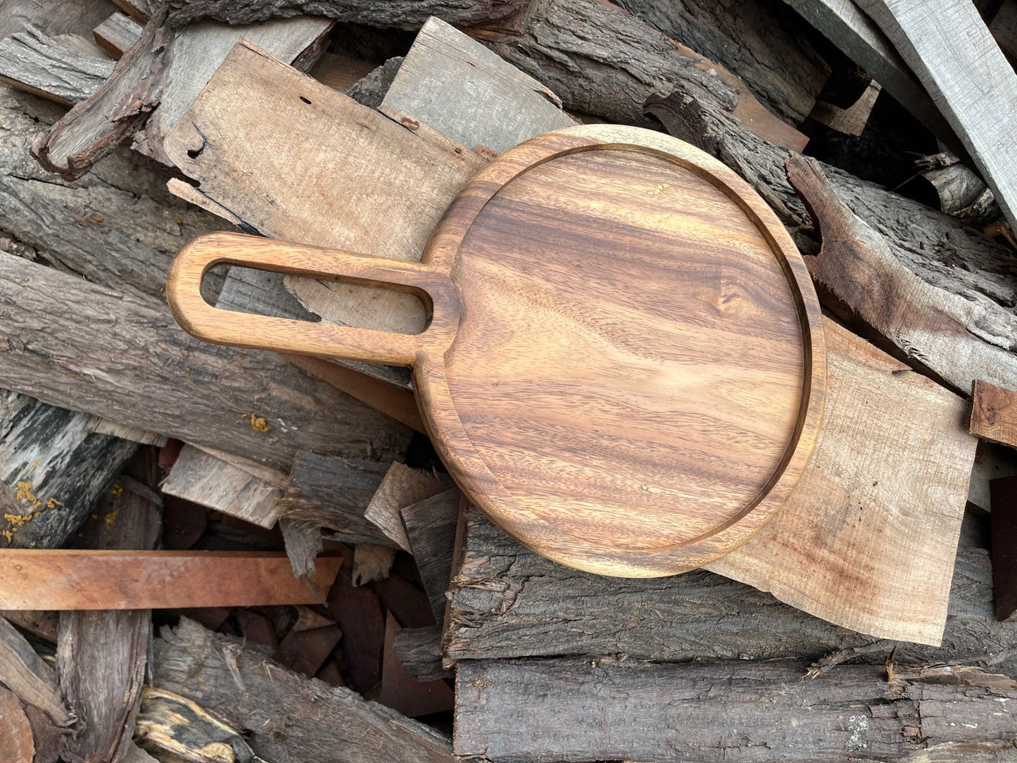
[[[154,459],[149,458],[146,466],[155,472]],[[147,476],[154,483],[155,474]],[[160,506],[154,498],[159,496],[147,485],[129,478],[122,477],[121,483],[127,486],[110,495],[106,521],[97,525],[91,544],[97,548],[154,548],[161,523]],[[60,691],[80,724],[63,753],[68,763],[121,763],[127,758],[151,639],[148,609],[60,613]]]

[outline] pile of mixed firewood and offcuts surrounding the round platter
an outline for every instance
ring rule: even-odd
[[[0,0],[0,759],[1013,759],[1014,178],[881,3],[116,4]],[[1017,3],[977,5],[1014,55]],[[405,369],[206,345],[165,304],[231,226],[419,259],[493,157],[595,121],[738,172],[828,311],[813,461],[709,570],[549,562],[461,495]]]

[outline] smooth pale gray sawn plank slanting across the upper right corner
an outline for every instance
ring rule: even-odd
[[[893,41],[1017,228],[1017,74],[967,0],[857,0]]]

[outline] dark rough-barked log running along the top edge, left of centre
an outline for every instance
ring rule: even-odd
[[[491,26],[521,13],[530,0],[258,0],[237,4],[231,0],[171,0],[170,21],[175,26],[199,18],[228,23],[251,23],[266,18],[302,14],[326,16],[369,26],[419,30],[430,16],[456,26]]]

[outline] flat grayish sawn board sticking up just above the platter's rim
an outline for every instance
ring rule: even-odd
[[[380,110],[417,119],[464,145],[498,153],[576,124],[547,87],[437,18],[420,30]]]

